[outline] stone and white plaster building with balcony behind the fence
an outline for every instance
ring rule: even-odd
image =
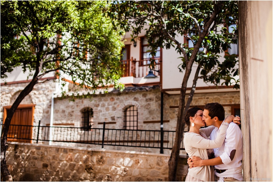
[[[155,58],[157,62],[155,69],[160,70],[160,74],[154,71],[157,78],[144,79],[149,71],[149,61],[145,57],[147,56],[147,52],[145,52],[147,40],[143,35],[139,35],[135,45],[130,42],[130,34],[125,37],[122,58],[124,74],[120,79],[125,84],[123,92],[110,88],[108,93],[97,91],[91,99],[78,98],[75,101],[70,101],[69,94],[72,93],[68,92],[68,97],[62,98],[59,93],[58,79],[54,74],[48,75],[36,84],[33,91],[22,101],[17,114],[15,113],[16,121],[14,120],[14,122],[38,125],[40,121],[41,126],[89,127],[89,129],[91,127],[102,128],[103,122],[105,122],[105,128],[108,129],[159,131],[162,122],[160,121],[162,96],[163,130],[175,131],[180,86],[183,78],[183,74],[177,68],[181,60],[177,58],[179,56],[175,48],[168,50],[160,48],[157,52],[157,58]],[[185,41],[183,37],[180,39]],[[223,58],[224,53],[221,56]],[[194,72],[193,70],[192,74]],[[189,79],[188,85],[190,86],[192,85],[192,78],[193,75]],[[1,80],[1,118],[5,119],[6,112],[27,82],[26,74],[22,74],[20,69],[13,71],[6,80]],[[68,81],[66,88],[73,88],[73,84]],[[187,92],[189,93],[189,91],[190,88]],[[80,94],[85,94],[85,92],[82,91]],[[204,104],[210,102],[221,103],[225,108],[226,116],[240,115],[239,90],[233,89],[232,86],[209,86],[199,80],[191,106],[203,108]],[[52,105],[52,103],[54,104]],[[85,133],[83,130],[79,130],[78,135],[85,135]],[[156,137],[153,137],[154,140]],[[169,136],[164,135],[164,142],[169,142],[167,137]],[[151,140],[150,138],[146,139]],[[76,143],[64,143],[64,145],[82,146],[82,144]],[[101,146],[94,145],[93,147]],[[127,147],[105,146],[105,148],[123,150]],[[151,148],[130,149],[129,147],[129,150],[159,153],[159,149]],[[170,151],[170,149],[164,149],[165,154],[169,154]],[[185,154],[183,151],[181,153]]]

